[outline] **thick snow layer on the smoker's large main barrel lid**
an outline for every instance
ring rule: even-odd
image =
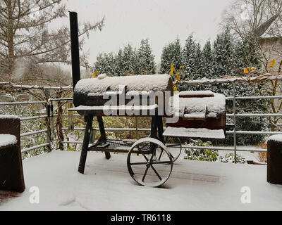
[[[125,85],[127,91],[172,90],[172,80],[169,75],[137,75],[104,77],[104,79],[80,79],[75,86],[75,92],[80,94],[89,92],[104,94],[105,91],[119,91],[121,85]]]

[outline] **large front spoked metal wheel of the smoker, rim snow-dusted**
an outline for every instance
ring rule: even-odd
[[[127,163],[130,176],[138,184],[150,187],[164,184],[173,167],[171,154],[164,143],[152,138],[135,142],[128,152]]]

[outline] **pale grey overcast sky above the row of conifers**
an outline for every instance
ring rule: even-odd
[[[79,22],[94,22],[105,16],[102,32],[92,32],[86,40],[85,50],[92,65],[99,53],[117,52],[127,44],[138,48],[142,39],[149,39],[157,63],[165,44],[177,37],[181,43],[191,33],[201,44],[214,40],[231,1],[68,0],[66,5],[69,11],[78,13]]]

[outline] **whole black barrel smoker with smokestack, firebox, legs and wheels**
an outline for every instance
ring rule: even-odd
[[[77,14],[70,13],[73,64],[73,103],[85,117],[85,136],[78,172],[85,172],[87,152],[128,153],[130,176],[142,186],[164,184],[173,169],[185,139],[225,139],[226,100],[212,91],[183,91],[173,95],[169,75],[140,75],[80,79]],[[106,138],[103,117],[152,117],[149,137],[140,140]],[[89,146],[93,117],[101,136]],[[166,118],[166,129],[163,127]]]

